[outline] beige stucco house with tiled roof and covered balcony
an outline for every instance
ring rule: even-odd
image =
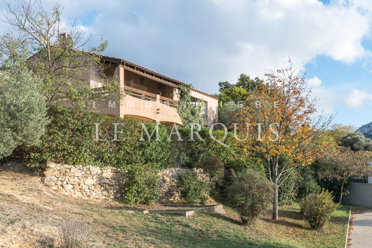
[[[146,69],[122,58],[102,56],[105,63],[103,73],[108,77],[117,77],[120,88],[126,93],[124,99],[118,102],[102,103],[93,110],[111,117],[135,117],[144,121],[173,125],[181,124],[182,120],[174,104],[178,104],[178,88],[184,85],[176,79]],[[92,73],[90,86],[102,87],[100,73]],[[196,89],[191,89],[194,104],[204,102],[202,115],[205,125],[211,127],[218,122],[218,98]]]

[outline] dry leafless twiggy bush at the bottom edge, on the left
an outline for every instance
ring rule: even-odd
[[[60,247],[84,248],[90,235],[92,225],[77,219],[64,218],[60,222]]]

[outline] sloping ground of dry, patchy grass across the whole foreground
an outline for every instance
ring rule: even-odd
[[[296,205],[280,208],[278,222],[268,214],[250,228],[241,226],[238,214],[228,207],[225,213],[190,218],[141,212],[159,207],[76,199],[50,190],[40,178],[0,168],[0,248],[55,248],[65,216],[92,223],[92,247],[343,247],[348,214],[347,207],[340,209],[330,225],[317,232]]]

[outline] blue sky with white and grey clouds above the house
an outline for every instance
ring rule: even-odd
[[[45,0],[51,7],[54,1]],[[105,55],[206,93],[240,73],[263,78],[288,57],[310,77],[318,111],[357,127],[372,121],[372,1],[65,0],[62,25],[80,16]],[[0,7],[4,4],[0,3]],[[1,13],[0,13],[1,15]],[[2,19],[2,18],[0,18]],[[9,27],[0,22],[0,30]]]

